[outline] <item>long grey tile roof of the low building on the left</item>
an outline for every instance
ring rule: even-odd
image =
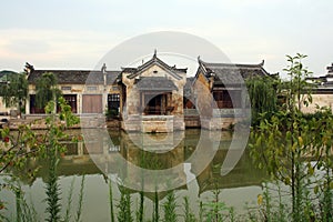
[[[30,84],[46,72],[52,72],[59,84],[103,84],[103,73],[99,70],[32,70],[28,77]],[[107,83],[113,84],[120,71],[107,71]]]

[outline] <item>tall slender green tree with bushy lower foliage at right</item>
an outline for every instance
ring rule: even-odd
[[[301,112],[312,102],[311,85],[305,81],[311,72],[303,67],[303,54],[287,57],[285,69],[289,81],[282,83],[285,99],[282,108],[269,119],[262,119],[251,133],[251,155],[260,168],[291,189],[293,221],[312,220],[313,205],[309,204],[309,190],[314,171],[325,161],[323,153],[331,144],[332,118],[315,118]],[[317,110],[317,117],[330,115]],[[315,159],[314,163],[311,160]]]

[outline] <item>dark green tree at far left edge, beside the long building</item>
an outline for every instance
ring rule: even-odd
[[[24,73],[7,73],[4,83],[0,84],[2,100],[7,108],[17,107],[19,112],[24,111],[28,97],[28,81]]]

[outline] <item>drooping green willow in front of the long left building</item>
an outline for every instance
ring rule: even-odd
[[[57,87],[58,79],[52,72],[43,73],[36,82],[36,104],[44,108],[51,100],[57,101],[61,91]]]

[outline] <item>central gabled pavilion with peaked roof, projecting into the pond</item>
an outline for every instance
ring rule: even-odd
[[[123,68],[120,85],[122,129],[142,132],[184,130],[183,88],[186,69],[158,58],[138,68]]]

